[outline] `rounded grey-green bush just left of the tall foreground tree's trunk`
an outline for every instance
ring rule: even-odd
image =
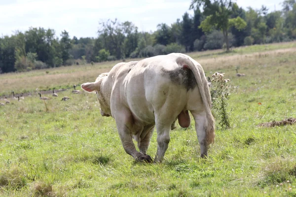
[[[223,33],[215,30],[209,35],[207,35],[207,40],[204,45],[204,49],[206,50],[222,49],[223,40],[224,40]]]

